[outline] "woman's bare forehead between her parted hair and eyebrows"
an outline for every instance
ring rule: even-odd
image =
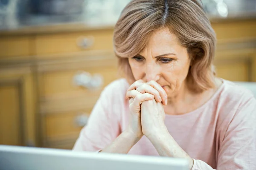
[[[179,48],[182,48],[182,46],[178,42],[177,36],[172,34],[168,28],[165,28],[151,34],[145,49],[141,53],[151,51],[154,55],[161,55],[170,52],[174,53]]]

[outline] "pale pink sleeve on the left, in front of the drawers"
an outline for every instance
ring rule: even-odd
[[[90,113],[87,125],[80,132],[73,147],[75,151],[99,151],[116,139],[120,134],[118,106],[114,96],[115,83],[108,85],[101,93],[93,111]],[[115,90],[116,91],[116,90]],[[120,102],[120,100],[119,100]]]

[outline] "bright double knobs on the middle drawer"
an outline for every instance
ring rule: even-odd
[[[91,75],[88,72],[81,71],[74,76],[74,83],[89,89],[100,88],[103,85],[103,77],[100,74]]]

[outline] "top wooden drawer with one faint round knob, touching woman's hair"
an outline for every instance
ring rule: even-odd
[[[112,50],[113,30],[84,31],[76,33],[43,34],[35,39],[35,52],[58,54],[88,50]]]

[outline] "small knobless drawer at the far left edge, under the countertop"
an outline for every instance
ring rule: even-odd
[[[31,54],[32,39],[24,36],[0,37],[0,59],[4,57],[25,57]]]

